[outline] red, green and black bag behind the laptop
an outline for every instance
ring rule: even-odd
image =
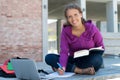
[[[15,72],[12,68],[10,59],[6,60],[1,66],[0,66],[0,77],[6,77],[6,78],[15,78]]]

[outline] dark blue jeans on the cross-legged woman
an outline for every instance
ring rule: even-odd
[[[98,71],[103,64],[102,54],[104,51],[93,51],[88,56],[83,56],[79,58],[73,58],[73,56],[68,57],[68,62],[66,66],[66,72],[74,72],[75,67],[81,69],[94,67],[95,71]],[[45,57],[45,61],[48,65],[54,68],[58,68],[57,62],[59,62],[59,55],[48,54]]]

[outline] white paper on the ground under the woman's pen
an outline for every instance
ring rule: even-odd
[[[53,72],[51,74],[46,75],[46,78],[52,79],[52,78],[57,78],[57,77],[71,77],[75,73],[72,72],[65,72],[64,75],[59,75],[58,72]]]

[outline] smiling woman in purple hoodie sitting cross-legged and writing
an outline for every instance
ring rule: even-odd
[[[69,4],[65,8],[67,23],[63,25],[60,42],[60,55],[48,54],[45,61],[60,75],[64,72],[94,75],[103,63],[103,51],[91,52],[88,56],[73,58],[74,52],[84,49],[100,47],[104,49],[103,38],[91,20],[82,18],[82,11],[76,4]],[[60,68],[60,66],[62,68]]]

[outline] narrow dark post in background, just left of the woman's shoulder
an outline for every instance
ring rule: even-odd
[[[61,33],[61,19],[57,20],[57,52],[60,53],[60,33]]]

